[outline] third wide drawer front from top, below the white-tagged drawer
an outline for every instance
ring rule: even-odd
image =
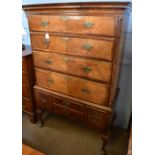
[[[34,65],[72,75],[110,82],[112,63],[64,56],[55,53],[33,52]]]

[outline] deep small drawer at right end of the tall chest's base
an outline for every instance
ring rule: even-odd
[[[110,115],[108,112],[106,111],[97,111],[94,109],[86,109],[86,113],[85,113],[86,117],[86,121],[88,123],[89,126],[96,128],[100,131],[107,131],[108,129],[108,121],[110,118]]]

